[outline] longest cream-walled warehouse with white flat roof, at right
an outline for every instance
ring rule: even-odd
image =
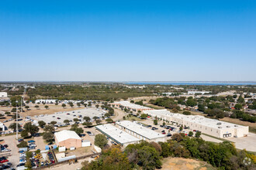
[[[249,127],[247,126],[231,124],[198,115],[173,114],[168,110],[146,110],[144,114],[182,124],[192,130],[201,131],[204,134],[209,134],[217,138],[240,138],[249,134]]]

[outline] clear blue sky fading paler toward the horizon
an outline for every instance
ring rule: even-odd
[[[0,1],[0,80],[256,80],[256,1]]]

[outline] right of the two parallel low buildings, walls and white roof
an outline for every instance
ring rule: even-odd
[[[144,126],[137,124],[132,121],[119,121],[116,122],[116,127],[119,129],[126,131],[128,134],[139,138],[144,141],[166,141],[166,137],[164,134],[157,133],[156,131],[152,131],[151,129],[145,128]]]

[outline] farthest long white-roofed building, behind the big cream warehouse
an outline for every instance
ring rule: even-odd
[[[113,107],[119,107],[119,108],[126,108],[129,110],[133,110],[133,111],[144,111],[144,110],[154,110],[153,108],[150,107],[144,107],[144,106],[140,106],[139,104],[132,104],[130,103],[130,101],[119,101],[119,102],[115,102],[111,104]]]

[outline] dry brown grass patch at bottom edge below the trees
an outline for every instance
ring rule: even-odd
[[[196,161],[189,158],[164,158],[162,168],[163,170],[213,170],[212,165],[206,162]]]

